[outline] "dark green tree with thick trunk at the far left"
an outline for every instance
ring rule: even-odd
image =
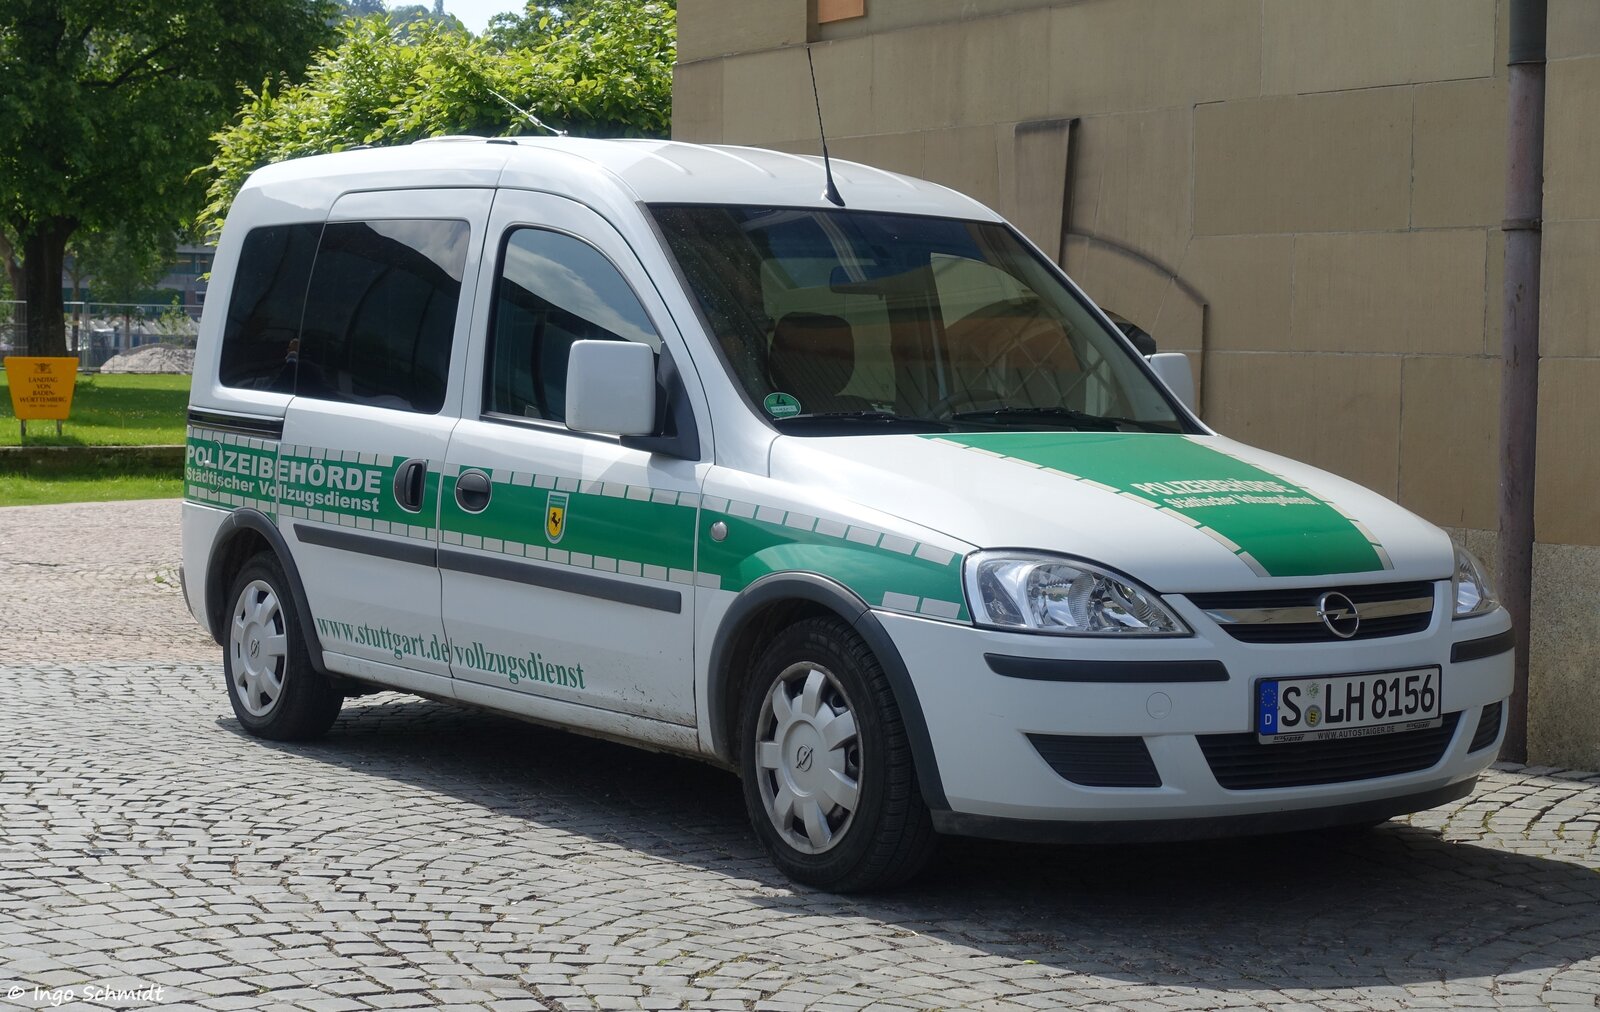
[[[0,5],[0,259],[27,347],[62,354],[61,267],[80,229],[174,234],[240,82],[302,69],[325,0],[6,0]]]

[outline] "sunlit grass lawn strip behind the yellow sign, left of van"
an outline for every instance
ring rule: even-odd
[[[189,376],[80,375],[72,416],[27,426],[30,447],[144,447],[184,442]],[[11,389],[0,370],[0,447],[18,445]],[[128,496],[118,496],[128,498]]]

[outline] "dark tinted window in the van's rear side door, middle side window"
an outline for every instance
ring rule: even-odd
[[[464,221],[328,224],[306,293],[296,392],[438,412],[469,237]]]

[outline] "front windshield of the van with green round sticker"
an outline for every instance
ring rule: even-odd
[[[1002,224],[651,211],[728,368],[786,432],[1186,429],[1120,338]]]

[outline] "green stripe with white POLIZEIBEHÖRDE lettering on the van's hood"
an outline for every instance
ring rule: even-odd
[[[1187,524],[1261,576],[1326,576],[1392,568],[1360,520],[1280,474],[1205,437],[1154,432],[963,432],[930,436],[1043,468]]]

